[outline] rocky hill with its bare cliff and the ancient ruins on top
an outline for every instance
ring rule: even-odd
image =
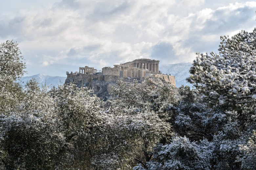
[[[153,81],[161,80],[176,86],[175,76],[160,73],[159,62],[159,60],[136,59],[114,67],[103,67],[102,70],[89,66],[79,67],[79,72],[67,72],[65,83],[75,82],[78,86],[88,86],[101,98],[109,95],[111,87],[115,86],[118,80],[133,82],[136,79],[140,83],[149,77]]]

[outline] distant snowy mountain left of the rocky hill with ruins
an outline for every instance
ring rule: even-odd
[[[66,80],[66,77],[48,76],[46,74],[36,74],[33,76],[22,77],[21,85],[25,88],[26,83],[30,81],[32,78],[38,81],[40,87],[46,83],[46,86],[49,86],[48,90],[50,90],[53,86],[57,87],[58,85],[63,85]]]

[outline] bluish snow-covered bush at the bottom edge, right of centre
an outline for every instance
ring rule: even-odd
[[[207,143],[209,144],[209,143]],[[211,145],[210,145],[211,146]],[[147,163],[146,169],[156,170],[196,170],[210,169],[212,148],[196,142],[190,142],[186,137],[173,137],[169,144],[159,145],[156,158]],[[144,170],[141,165],[134,170]]]

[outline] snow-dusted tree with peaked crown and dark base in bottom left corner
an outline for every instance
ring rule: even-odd
[[[9,113],[0,113],[1,169],[55,169],[64,138],[53,100],[33,80],[26,89]]]

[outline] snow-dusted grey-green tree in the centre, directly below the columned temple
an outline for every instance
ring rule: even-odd
[[[153,156],[153,147],[158,142],[166,140],[171,135],[169,108],[175,103],[173,86],[169,84],[155,84],[146,79],[141,84],[117,82],[118,87],[112,88],[112,114],[128,117],[128,128],[135,139],[137,154],[133,159],[145,166]],[[129,146],[129,145],[128,145]]]

